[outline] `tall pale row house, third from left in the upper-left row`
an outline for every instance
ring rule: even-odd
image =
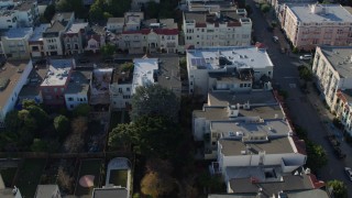
[[[46,56],[64,55],[62,37],[74,20],[74,12],[55,13],[51,26],[43,32],[43,46]]]

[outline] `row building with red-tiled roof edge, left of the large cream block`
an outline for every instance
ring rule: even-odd
[[[129,51],[130,54],[177,53],[177,24],[172,19],[166,23],[163,23],[164,21],[151,23],[146,29],[122,32],[118,47]]]

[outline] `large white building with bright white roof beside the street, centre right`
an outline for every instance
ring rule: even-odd
[[[205,97],[210,90],[243,92],[260,80],[273,78],[274,65],[265,48],[204,47],[188,50],[186,58],[190,95]]]

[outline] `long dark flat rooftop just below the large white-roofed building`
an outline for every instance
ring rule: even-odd
[[[243,105],[249,102],[250,106],[271,106],[278,105],[272,91],[251,91],[251,92],[209,92],[208,105],[227,107],[229,105]]]

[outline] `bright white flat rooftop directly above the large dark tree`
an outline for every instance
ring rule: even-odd
[[[158,58],[134,58],[134,70],[132,80],[132,94],[139,86],[154,84],[158,69]]]

